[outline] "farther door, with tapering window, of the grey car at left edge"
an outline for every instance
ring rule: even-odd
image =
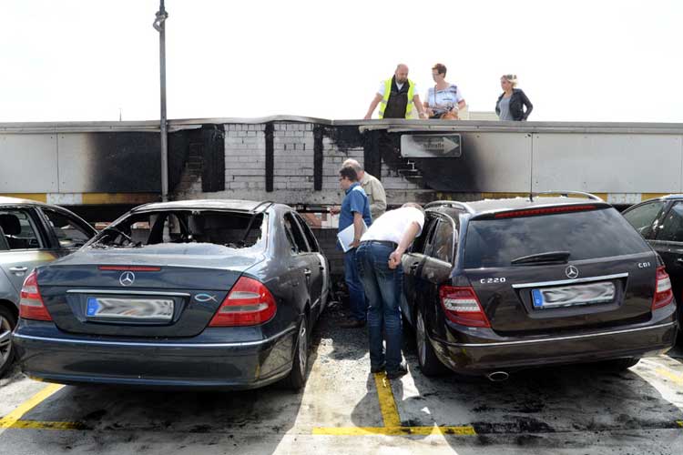
[[[44,216],[48,236],[59,256],[73,253],[97,234],[97,230],[66,210],[40,207],[39,211]]]

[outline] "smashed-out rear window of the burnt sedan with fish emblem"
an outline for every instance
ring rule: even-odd
[[[225,254],[265,248],[264,215],[209,210],[156,211],[130,215],[105,227],[91,248],[146,248],[185,254]]]

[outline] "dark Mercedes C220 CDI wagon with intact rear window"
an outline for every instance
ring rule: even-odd
[[[624,369],[674,345],[663,264],[614,207],[586,196],[427,206],[403,258],[403,312],[424,374]]]

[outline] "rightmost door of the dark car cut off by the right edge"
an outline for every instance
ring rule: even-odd
[[[649,243],[664,260],[680,305],[683,302],[683,201],[675,201],[660,219]]]

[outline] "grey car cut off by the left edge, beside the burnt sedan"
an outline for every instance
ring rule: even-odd
[[[62,207],[0,197],[0,376],[15,357],[11,333],[19,317],[19,291],[39,265],[82,247],[97,231]]]

